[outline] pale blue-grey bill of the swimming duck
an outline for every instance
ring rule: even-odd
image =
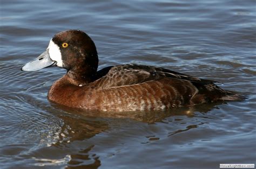
[[[21,70],[26,72],[38,71],[39,69],[55,66],[56,61],[51,60],[49,50],[47,49],[38,58],[22,66]]]

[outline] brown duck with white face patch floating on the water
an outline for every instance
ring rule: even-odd
[[[245,99],[218,87],[213,80],[137,64],[98,71],[98,61],[96,45],[85,32],[66,30],[55,34],[46,51],[21,70],[33,72],[51,66],[66,69],[66,74],[50,87],[48,100],[82,110],[163,110]]]

